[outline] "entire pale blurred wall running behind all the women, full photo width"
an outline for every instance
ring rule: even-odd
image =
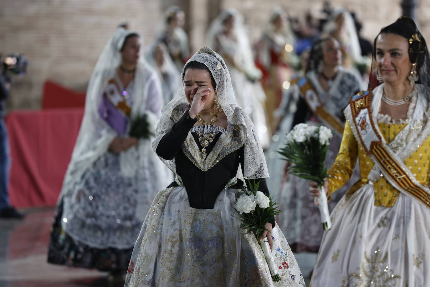
[[[372,40],[382,26],[401,13],[401,0],[332,0],[357,12],[362,34]],[[171,4],[188,13],[186,28],[192,52],[204,45],[204,33],[214,11],[233,7],[245,15],[252,40],[274,6],[289,15],[304,15],[321,7],[321,0],[0,0],[0,52],[23,52],[28,74],[15,77],[9,110],[40,108],[43,82],[52,79],[72,89],[86,88],[106,40],[121,21],[129,21],[150,43],[161,11]],[[418,25],[430,42],[430,1],[418,0]]]

